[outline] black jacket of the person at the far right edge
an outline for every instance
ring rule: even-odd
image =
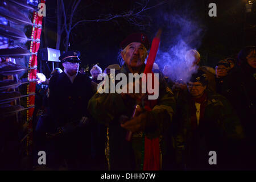
[[[248,64],[243,64],[227,76],[222,85],[222,93],[233,105],[240,117],[245,134],[255,138],[255,109],[256,109],[256,79],[255,70]]]

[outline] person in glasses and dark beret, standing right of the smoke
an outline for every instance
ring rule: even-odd
[[[187,170],[233,169],[242,126],[228,100],[207,90],[208,83],[205,72],[193,73],[188,92],[177,99],[177,159]],[[217,154],[215,162],[210,151]]]

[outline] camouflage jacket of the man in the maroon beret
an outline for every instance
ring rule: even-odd
[[[144,66],[141,69],[141,73]],[[129,72],[126,65],[123,65],[117,73]],[[110,78],[110,80],[113,80]],[[156,138],[163,135],[171,125],[172,115],[175,111],[174,96],[163,78],[159,80],[159,98],[157,105],[150,111],[151,119],[147,121],[144,135],[147,138]],[[110,142],[110,166],[112,170],[138,169],[138,158],[143,160],[143,140],[137,142],[126,142],[127,130],[120,126],[121,115],[131,117],[136,102],[132,99],[123,101],[121,94],[117,93],[96,93],[89,101],[88,109],[96,121],[104,123],[109,127]],[[134,151],[137,150],[137,151]],[[134,155],[135,153],[135,155]],[[134,162],[137,160],[137,162]]]

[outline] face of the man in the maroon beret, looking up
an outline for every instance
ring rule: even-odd
[[[139,67],[144,63],[147,57],[147,49],[143,44],[133,42],[122,51],[121,56],[130,67]]]

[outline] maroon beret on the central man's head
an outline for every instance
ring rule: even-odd
[[[121,42],[120,47],[124,49],[126,46],[128,46],[132,42],[142,43],[147,50],[150,48],[149,40],[147,36],[143,33],[135,33],[127,36],[127,38]]]

